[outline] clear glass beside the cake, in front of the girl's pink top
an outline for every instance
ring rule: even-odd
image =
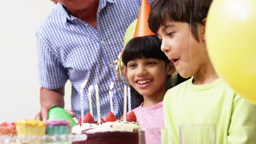
[[[170,129],[139,129],[139,144],[173,144]]]

